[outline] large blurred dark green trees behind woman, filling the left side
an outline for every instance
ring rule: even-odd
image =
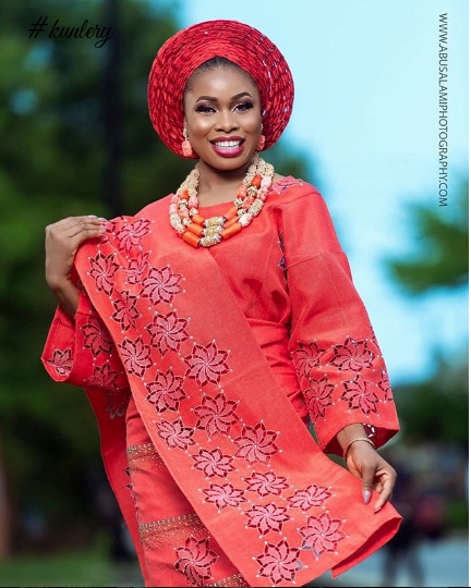
[[[85,394],[55,384],[39,360],[56,307],[44,279],[44,230],[73,215],[133,215],[193,167],[159,140],[146,101],[152,61],[180,28],[179,10],[144,0],[1,4],[0,451],[23,541],[32,518],[41,528],[38,516],[61,542],[87,523],[87,470],[100,465]],[[29,37],[44,16],[47,30]],[[57,20],[112,24],[114,37],[101,48],[96,39],[49,38]],[[267,158],[282,162],[280,173],[310,180],[301,154],[289,151],[280,142]]]

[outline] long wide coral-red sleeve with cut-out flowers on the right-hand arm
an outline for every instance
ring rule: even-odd
[[[317,441],[341,455],[337,433],[361,422],[378,448],[399,422],[386,365],[322,196],[283,207],[291,302],[289,352]]]

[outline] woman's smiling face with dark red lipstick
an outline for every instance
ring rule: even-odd
[[[184,96],[193,150],[217,170],[237,170],[251,160],[262,128],[261,99],[251,77],[235,68],[196,73]]]

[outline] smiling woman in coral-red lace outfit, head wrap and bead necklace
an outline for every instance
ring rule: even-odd
[[[44,365],[88,394],[146,585],[340,574],[398,528],[375,449],[398,420],[322,196],[258,155],[289,121],[289,68],[258,30],[201,23],[157,53],[148,102],[198,162],[135,217],[47,228]]]

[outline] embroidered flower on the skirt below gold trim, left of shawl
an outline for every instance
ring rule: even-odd
[[[209,549],[209,538],[201,539],[189,537],[185,547],[176,548],[178,558],[174,568],[185,576],[190,586],[205,586],[205,580],[213,577],[210,566],[216,563],[219,555]]]

